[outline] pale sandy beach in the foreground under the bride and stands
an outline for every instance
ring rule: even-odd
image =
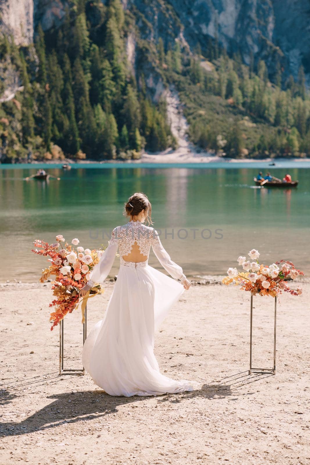
[[[309,464],[309,280],[278,306],[275,376],[248,375],[249,294],[205,282],[196,279],[155,336],[162,372],[195,391],[151,398],[110,397],[88,374],[59,377],[50,284],[0,285],[0,463]],[[90,301],[88,332],[112,289],[107,281]],[[271,367],[273,300],[256,297],[254,307],[253,364]],[[67,368],[80,367],[80,319],[65,320]]]

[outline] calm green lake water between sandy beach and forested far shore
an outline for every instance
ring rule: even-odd
[[[185,274],[224,274],[252,248],[262,262],[290,259],[310,273],[309,163],[40,166],[61,180],[26,182],[39,165],[0,166],[1,282],[39,279],[48,262],[31,252],[34,239],[53,242],[61,233],[85,248],[107,245],[112,228],[127,222],[124,201],[136,191],[149,196],[154,227]],[[289,172],[299,186],[255,188],[257,168],[278,178]],[[149,263],[160,269],[152,252]],[[117,258],[111,274],[118,266]]]

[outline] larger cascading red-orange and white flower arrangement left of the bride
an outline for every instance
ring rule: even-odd
[[[99,262],[104,250],[90,250],[79,245],[79,239],[73,239],[69,245],[61,234],[56,236],[56,241],[53,244],[48,244],[43,240],[35,240],[33,242],[36,248],[32,249],[33,253],[50,257],[47,261],[51,262],[48,268],[42,270],[40,282],[44,283],[51,275],[55,275],[55,280],[52,281],[52,290],[55,299],[49,305],[55,307],[51,313],[50,321],[53,321],[51,331],[54,326],[57,326],[59,321],[64,318],[67,313],[72,313],[74,308],[79,306],[79,290],[86,284],[89,279],[89,273],[92,268]],[[65,243],[62,245],[62,243]],[[38,250],[40,249],[40,250]],[[98,286],[92,287],[87,292],[82,300],[82,323],[84,322],[84,311],[86,301],[89,296],[101,294],[102,288]]]

